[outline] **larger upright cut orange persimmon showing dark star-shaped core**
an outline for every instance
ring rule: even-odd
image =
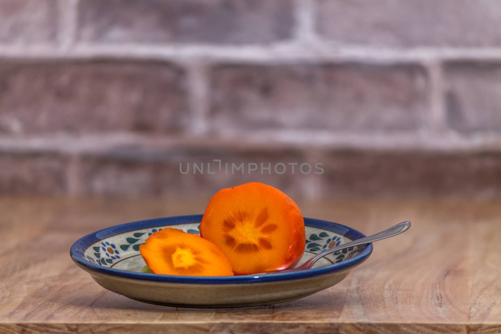
[[[259,182],[219,190],[205,209],[200,235],[226,254],[237,275],[291,268],[305,249],[298,205]]]

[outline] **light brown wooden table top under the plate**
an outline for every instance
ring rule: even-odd
[[[0,198],[0,333],[501,333],[501,201],[298,200],[371,234],[403,220],[344,281],[272,306],[187,309],[104,290],[69,255],[114,224],[201,213],[199,199]]]

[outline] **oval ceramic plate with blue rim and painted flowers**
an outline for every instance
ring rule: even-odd
[[[350,247],[319,260],[312,269],[266,275],[175,276],[142,273],[139,245],[164,227],[199,233],[202,215],[148,219],[88,234],[70,249],[75,263],[102,287],[126,297],[177,307],[234,307],[302,298],[343,280],[366,260],[372,244]],[[341,224],[305,218],[306,246],[301,263],[314,254],[365,235]],[[298,265],[299,265],[298,264]]]

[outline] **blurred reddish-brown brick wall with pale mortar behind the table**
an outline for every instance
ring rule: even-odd
[[[498,196],[499,22],[497,0],[0,0],[0,193]]]

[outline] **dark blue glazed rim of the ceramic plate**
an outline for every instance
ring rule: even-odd
[[[70,248],[70,255],[79,266],[84,267],[88,271],[96,271],[116,277],[132,278],[146,281],[167,282],[167,283],[191,283],[191,284],[239,284],[239,283],[261,283],[261,282],[278,282],[292,279],[310,278],[320,275],[333,273],[336,271],[349,269],[365,261],[372,253],[372,243],[366,245],[365,249],[354,257],[344,260],[342,262],[329,264],[323,267],[274,273],[266,275],[238,275],[238,276],[178,276],[178,275],[159,275],[152,273],[143,273],[135,271],[127,271],[121,269],[114,269],[109,267],[100,266],[98,264],[87,261],[84,258],[84,251],[93,243],[100,241],[104,238],[110,237],[123,232],[133,231],[142,228],[151,228],[163,225],[176,225],[186,223],[199,223],[202,219],[201,214],[185,215],[185,216],[172,216],[164,218],[146,219],[134,221],[130,223],[120,224],[102,230],[92,232],[86,236],[81,237],[73,243]],[[304,218],[305,225],[323,228],[329,231],[336,232],[344,235],[350,239],[360,239],[365,237],[365,234],[357,231],[354,228],[333,223],[326,220]]]

